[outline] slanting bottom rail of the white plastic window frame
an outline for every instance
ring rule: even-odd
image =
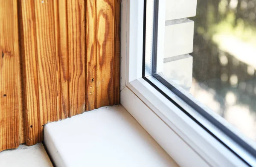
[[[180,166],[247,166],[143,78],[122,90],[121,104]]]

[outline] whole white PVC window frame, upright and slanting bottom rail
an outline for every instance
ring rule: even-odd
[[[164,2],[160,0],[159,5]],[[121,104],[180,166],[247,166],[142,78],[143,7],[143,0],[122,0]],[[147,78],[178,98],[150,75]],[[180,105],[190,109],[184,103]],[[199,119],[207,124],[207,120]],[[256,166],[253,157],[248,159]]]

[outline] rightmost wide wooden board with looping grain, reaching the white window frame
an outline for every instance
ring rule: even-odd
[[[87,0],[87,110],[119,104],[120,0]]]

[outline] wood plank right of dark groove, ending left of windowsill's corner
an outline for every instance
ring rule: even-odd
[[[43,140],[38,93],[38,57],[34,0],[19,0],[22,13],[22,69],[24,127],[26,144],[33,145]]]

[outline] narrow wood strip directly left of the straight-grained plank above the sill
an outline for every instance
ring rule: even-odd
[[[55,41],[57,59],[57,118],[64,119],[69,111],[67,0],[55,0]]]

